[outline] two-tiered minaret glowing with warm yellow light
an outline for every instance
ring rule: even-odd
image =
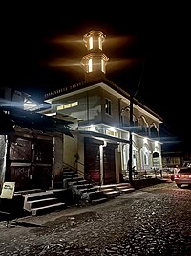
[[[83,35],[83,41],[88,50],[81,63],[85,70],[85,81],[96,81],[105,77],[109,58],[102,53],[102,44],[106,35],[101,31],[90,31]]]

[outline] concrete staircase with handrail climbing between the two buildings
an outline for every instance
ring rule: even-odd
[[[73,170],[69,168],[63,170],[63,184],[64,188],[72,189],[76,203],[98,204],[107,201],[102,191],[84,178],[74,174]]]

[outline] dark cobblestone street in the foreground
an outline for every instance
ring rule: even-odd
[[[191,256],[191,190],[159,184],[84,208],[0,222],[0,255]]]

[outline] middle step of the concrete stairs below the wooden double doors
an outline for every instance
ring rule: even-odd
[[[59,202],[60,198],[45,198],[40,200],[27,201],[24,203],[24,209],[31,212],[33,208],[44,207]]]

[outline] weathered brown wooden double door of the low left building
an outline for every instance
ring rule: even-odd
[[[11,138],[6,180],[15,182],[15,190],[48,189],[52,170],[53,138]]]

